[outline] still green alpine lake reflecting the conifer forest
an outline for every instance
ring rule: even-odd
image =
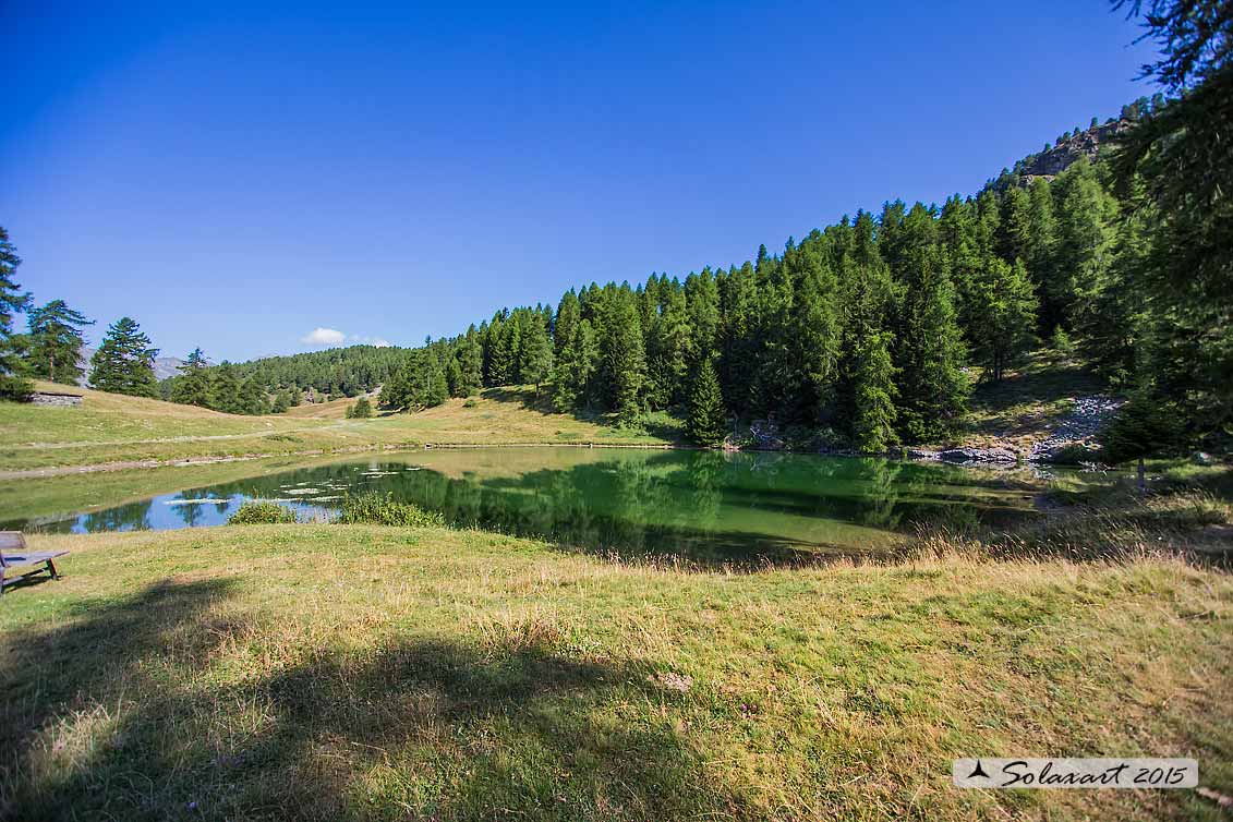
[[[922,526],[1043,516],[1074,472],[981,470],[803,454],[586,447],[432,449],[317,461],[185,465],[0,482],[0,529],[216,526],[250,499],[328,521],[376,492],[457,527],[621,556],[700,562],[879,553]]]

